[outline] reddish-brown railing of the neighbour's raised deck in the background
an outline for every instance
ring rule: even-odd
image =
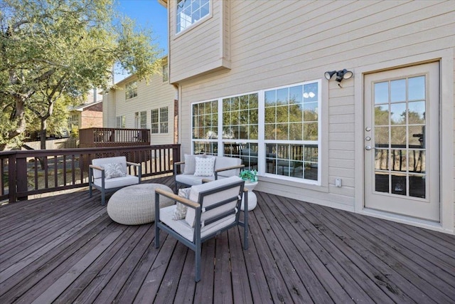
[[[79,130],[79,147],[124,147],[150,145],[148,129],[90,127]]]

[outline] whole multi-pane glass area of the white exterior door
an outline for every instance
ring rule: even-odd
[[[425,77],[374,84],[376,192],[425,198]]]

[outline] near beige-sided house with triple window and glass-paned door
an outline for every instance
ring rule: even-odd
[[[240,155],[262,192],[454,233],[453,1],[159,1],[183,153]]]

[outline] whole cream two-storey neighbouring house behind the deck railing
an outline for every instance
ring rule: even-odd
[[[163,73],[147,83],[136,75],[119,81],[103,94],[103,126],[149,129],[151,145],[177,141],[177,90],[168,83],[167,58]]]

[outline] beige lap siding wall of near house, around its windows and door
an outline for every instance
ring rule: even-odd
[[[223,6],[226,2],[230,4]],[[168,1],[170,80],[179,86],[179,134],[183,153],[191,152],[191,103],[321,80],[321,185],[261,177],[256,189],[365,213],[362,209],[363,161],[360,160],[363,159],[363,76],[378,70],[439,61],[441,94],[445,96],[441,108],[446,111],[443,111],[441,125],[444,140],[450,139],[449,142],[441,140],[441,164],[449,166],[441,167],[443,227],[418,223],[417,226],[453,233],[453,2],[212,3],[210,19],[176,36],[172,30],[175,1]],[[222,8],[227,16],[223,15]],[[220,20],[220,16],[225,17]],[[210,69],[201,67],[220,59],[221,36],[228,46],[225,50],[230,58],[229,68],[207,73]],[[214,42],[216,46],[213,46]],[[323,77],[327,70],[343,68],[354,72],[353,78],[343,80],[343,88],[338,87],[336,81]],[[343,187],[335,187],[336,177],[343,180]]]

